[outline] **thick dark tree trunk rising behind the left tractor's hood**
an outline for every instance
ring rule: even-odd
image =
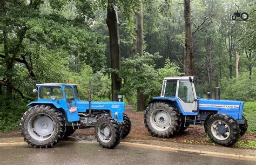
[[[107,3],[106,24],[107,28],[109,28],[111,68],[119,70],[121,67],[121,56],[117,7],[113,4],[112,0],[107,1]],[[122,80],[119,79],[117,73],[111,73],[111,87],[112,100],[117,101],[117,95],[122,87]]]

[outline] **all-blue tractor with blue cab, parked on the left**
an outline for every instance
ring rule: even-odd
[[[88,101],[79,99],[75,84],[37,84],[37,101],[21,120],[24,141],[34,148],[48,148],[76,129],[95,129],[96,139],[104,148],[116,147],[121,138],[130,133],[131,121],[124,113],[125,103],[120,101]]]

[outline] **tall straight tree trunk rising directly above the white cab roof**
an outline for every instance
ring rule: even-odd
[[[185,68],[186,75],[193,75],[193,54],[192,54],[192,32],[191,32],[191,9],[190,0],[184,0],[184,20],[185,20]]]

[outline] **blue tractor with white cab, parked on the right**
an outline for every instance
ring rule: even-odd
[[[210,93],[204,99],[197,77],[164,78],[160,97],[146,108],[145,127],[153,136],[171,138],[190,125],[204,125],[213,142],[233,145],[248,127],[242,115],[244,101],[220,100],[219,89],[217,83],[215,99]]]

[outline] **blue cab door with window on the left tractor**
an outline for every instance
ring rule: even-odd
[[[72,86],[65,86],[65,99],[66,99],[66,112],[68,115],[69,122],[71,121],[79,121],[76,99]]]

